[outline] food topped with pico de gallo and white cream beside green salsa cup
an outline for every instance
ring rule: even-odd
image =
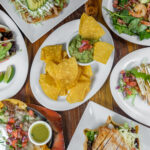
[[[0,102],[0,149],[11,150],[50,150],[47,145],[36,146],[29,141],[28,129],[41,117],[16,99]]]

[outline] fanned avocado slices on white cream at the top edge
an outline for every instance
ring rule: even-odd
[[[31,11],[36,11],[42,7],[47,0],[26,0],[27,6]]]

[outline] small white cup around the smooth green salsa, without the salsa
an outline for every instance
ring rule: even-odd
[[[32,128],[33,128],[35,125],[37,125],[37,124],[43,124],[43,125],[45,125],[45,126],[47,127],[47,129],[49,130],[49,137],[47,138],[46,141],[44,141],[44,142],[42,142],[42,143],[36,142],[36,141],[32,138],[32,135],[31,135],[31,130],[32,130]],[[45,122],[45,121],[36,121],[36,122],[34,122],[34,123],[30,126],[30,128],[29,128],[29,130],[28,130],[28,136],[29,136],[29,140],[30,140],[34,145],[42,146],[42,145],[47,144],[47,143],[51,140],[51,138],[52,138],[52,128],[51,128],[50,125],[49,125],[47,122]]]

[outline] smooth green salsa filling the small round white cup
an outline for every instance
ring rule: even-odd
[[[31,136],[34,141],[43,143],[49,137],[49,130],[44,124],[36,124],[31,129]]]

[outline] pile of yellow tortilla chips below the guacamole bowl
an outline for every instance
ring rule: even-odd
[[[90,91],[91,66],[78,66],[74,57],[68,58],[62,45],[42,48],[41,60],[46,63],[45,74],[40,75],[40,85],[51,99],[67,96],[69,103],[83,101]]]

